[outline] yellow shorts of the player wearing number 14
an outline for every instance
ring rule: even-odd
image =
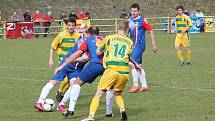
[[[122,91],[129,79],[129,75],[120,74],[117,71],[107,68],[101,77],[98,88],[99,90]]]

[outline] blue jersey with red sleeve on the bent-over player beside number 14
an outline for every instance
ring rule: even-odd
[[[102,36],[95,36],[93,35],[92,37],[88,38],[83,44],[80,46],[79,50],[82,51],[88,51],[90,54],[90,62],[95,62],[95,63],[101,63],[102,64],[102,58],[103,55],[98,56],[96,54],[97,46],[96,46],[96,41],[101,41],[103,38]]]

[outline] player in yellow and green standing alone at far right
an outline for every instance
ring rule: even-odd
[[[192,27],[192,22],[189,16],[183,13],[183,6],[178,6],[177,8],[178,15],[176,16],[176,27],[177,34],[175,39],[175,50],[178,55],[179,65],[184,64],[184,58],[182,56],[182,52],[179,47],[184,47],[184,51],[186,53],[187,65],[190,66],[191,60],[191,52],[190,52],[190,37],[189,37],[189,29]]]

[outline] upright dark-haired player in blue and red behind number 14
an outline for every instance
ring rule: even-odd
[[[142,65],[142,55],[145,51],[145,38],[146,38],[146,31],[148,31],[151,35],[151,49],[153,53],[156,53],[158,51],[156,43],[155,43],[155,37],[154,37],[154,31],[152,29],[152,26],[146,21],[145,18],[140,17],[140,7],[139,4],[132,4],[130,7],[131,16],[129,19],[129,31],[130,31],[130,37],[134,42],[134,49],[131,54],[131,58],[135,60],[140,66]],[[136,93],[136,92],[146,92],[149,91],[146,77],[145,77],[145,71],[143,68],[141,69],[141,73],[137,72],[137,70],[134,68],[134,65],[130,63],[131,67],[131,74],[133,77],[133,86],[129,90],[130,93]],[[140,80],[140,83],[142,84],[141,87],[138,86],[138,80]]]

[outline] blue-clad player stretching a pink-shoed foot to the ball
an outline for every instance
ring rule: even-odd
[[[88,35],[88,34],[86,34],[86,35]],[[78,39],[78,41],[76,42],[74,47],[71,48],[71,50],[68,52],[68,54],[65,56],[65,58],[60,63],[60,65],[62,63],[64,63],[66,61],[66,59],[72,53],[74,53],[76,50],[78,50],[79,46],[82,45],[82,43],[85,41],[86,38],[87,37],[84,37],[84,35],[83,35]],[[83,55],[78,60],[79,61],[83,61],[83,60],[85,61],[88,58],[89,57],[87,57],[86,55]],[[43,87],[42,92],[40,94],[40,97],[39,97],[38,101],[36,102],[36,104],[34,105],[34,108],[36,108],[38,111],[43,111],[43,104],[44,104],[44,101],[45,101],[46,97],[48,96],[50,90],[54,86],[56,86],[58,84],[58,82],[62,81],[66,76],[67,76],[68,80],[74,80],[73,78],[76,78],[78,76],[78,74],[81,72],[84,64],[83,63],[77,63],[76,61],[65,66],[61,71],[54,74],[52,79]]]

